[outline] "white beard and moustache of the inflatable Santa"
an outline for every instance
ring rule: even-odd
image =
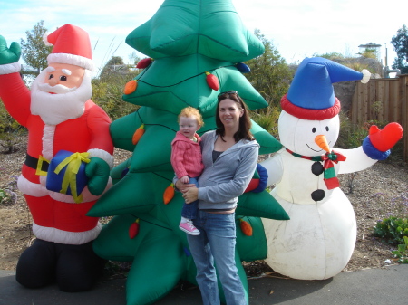
[[[92,97],[91,75],[91,71],[85,70],[79,88],[70,89],[58,85],[54,90],[57,94],[51,94],[44,85],[46,71],[42,71],[31,86],[31,113],[39,115],[44,123],[49,125],[81,117],[85,102]]]

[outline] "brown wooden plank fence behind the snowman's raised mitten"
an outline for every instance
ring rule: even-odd
[[[350,111],[358,125],[368,120],[398,122],[403,126],[403,158],[408,162],[408,74],[396,79],[356,82]]]

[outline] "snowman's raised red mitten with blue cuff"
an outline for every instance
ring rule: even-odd
[[[382,130],[373,125],[363,141],[364,153],[374,160],[384,160],[390,156],[390,148],[401,138],[403,127],[398,123],[389,123]]]

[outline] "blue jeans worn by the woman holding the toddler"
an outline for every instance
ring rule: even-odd
[[[215,262],[227,305],[247,305],[235,264],[235,214],[211,214],[199,210],[193,224],[200,234],[187,234],[187,240],[197,267],[196,279],[203,304],[220,304]]]

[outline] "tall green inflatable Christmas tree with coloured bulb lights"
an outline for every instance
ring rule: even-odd
[[[128,82],[123,95],[123,100],[141,108],[111,125],[114,146],[133,154],[113,168],[114,186],[89,215],[115,215],[103,227],[94,250],[105,259],[131,261],[128,304],[150,304],[180,280],[196,284],[186,235],[179,229],[183,198],[172,186],[170,143],[179,130],[177,116],[192,106],[204,118],[199,134],[216,129],[218,94],[230,90],[238,91],[251,110],[266,107],[242,75],[248,71],[242,62],[262,54],[264,46],[243,26],[229,0],[166,0],[148,22],[128,35],[126,43],[149,56],[139,62],[143,71]],[[251,132],[260,145],[259,154],[281,148],[255,122]],[[255,187],[259,180],[262,177],[255,173]],[[259,217],[288,219],[267,191],[256,190],[241,195],[236,210],[236,258],[247,292],[241,261],[267,257]],[[250,229],[240,230],[240,224],[249,226],[252,234]]]

